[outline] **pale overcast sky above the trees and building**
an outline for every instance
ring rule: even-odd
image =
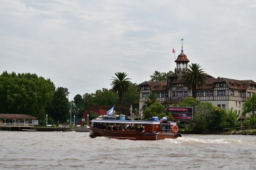
[[[0,0],[0,72],[36,73],[76,94],[174,71],[184,54],[211,76],[256,81],[256,1]],[[0,73],[0,74],[1,74]]]

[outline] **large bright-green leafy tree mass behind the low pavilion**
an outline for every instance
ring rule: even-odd
[[[31,73],[0,76],[0,112],[29,114],[41,119],[46,106],[53,97],[55,86],[50,79]]]

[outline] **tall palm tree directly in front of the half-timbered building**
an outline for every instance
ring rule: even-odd
[[[192,88],[192,96],[196,98],[196,87],[206,82],[205,72],[200,69],[197,63],[189,65],[188,72],[183,74],[183,83]]]

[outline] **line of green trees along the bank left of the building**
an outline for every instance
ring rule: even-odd
[[[118,82],[120,75],[124,79]],[[101,107],[107,110],[113,105],[120,105],[119,109],[128,113],[130,104],[139,103],[138,85],[128,81],[129,79],[125,78],[126,73],[116,73],[116,76],[113,85],[123,87],[123,81],[126,89],[102,88],[95,93],[77,94],[69,101],[68,88],[56,88],[50,79],[34,73],[16,74],[4,71],[0,75],[0,113],[29,114],[37,117],[40,124],[45,124],[46,114],[48,122],[66,122],[70,116],[70,108],[72,115],[75,116],[82,116],[84,109],[87,108]]]

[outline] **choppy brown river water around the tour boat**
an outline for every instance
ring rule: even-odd
[[[0,131],[0,169],[256,169],[256,136],[131,141],[81,132]]]

